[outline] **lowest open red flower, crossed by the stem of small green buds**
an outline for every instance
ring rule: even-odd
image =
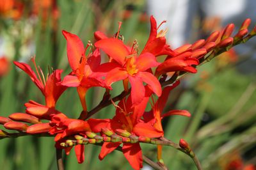
[[[121,100],[116,109],[116,116],[112,120],[96,120],[90,119],[88,123],[91,125],[93,132],[100,132],[101,128],[109,128],[115,130],[127,130],[131,134],[137,136],[160,137],[163,133],[152,127],[150,123],[141,120],[148,97],[144,98],[141,104],[132,107],[131,97],[125,102],[125,98]],[[102,160],[108,153],[115,150],[121,143],[104,143],[100,151],[99,158]],[[125,158],[129,161],[132,168],[140,169],[142,167],[142,151],[139,143],[124,143],[122,151]]]

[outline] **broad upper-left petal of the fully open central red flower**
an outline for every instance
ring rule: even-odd
[[[95,42],[95,47],[102,49],[109,57],[115,59],[120,65],[124,65],[125,57],[130,52],[121,40],[116,38],[106,38]]]

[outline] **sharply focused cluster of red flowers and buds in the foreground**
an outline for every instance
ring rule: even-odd
[[[67,154],[74,146],[79,163],[84,161],[84,144],[102,144],[100,160],[121,145],[132,168],[140,169],[143,162],[141,142],[157,144],[157,158],[163,162],[161,144],[164,130],[161,120],[172,115],[190,116],[185,110],[164,112],[170,91],[179,85],[179,77],[186,72],[196,73],[196,66],[234,45],[246,42],[255,35],[256,29],[248,33],[250,19],[247,19],[234,37],[231,37],[234,24],[230,24],[222,33],[216,31],[206,40],[198,40],[173,50],[166,43],[166,31],[159,31],[154,17],[150,17],[150,22],[150,35],[141,52],[136,41],[132,46],[124,43],[120,35],[121,24],[113,37],[96,31],[95,43],[88,42],[85,47],[77,35],[63,31],[67,40],[68,63],[72,70],[63,79],[62,70],[53,70],[44,76],[40,67],[36,66],[35,58],[31,59],[35,72],[28,64],[15,61],[14,64],[26,72],[42,91],[45,104],[29,100],[25,104],[25,113],[16,112],[9,118],[0,117],[0,123],[7,129],[20,131],[20,134],[15,135],[52,135],[55,137],[55,147],[65,149]],[[102,54],[108,56],[108,62],[101,63]],[[159,56],[164,57],[164,61],[160,62]],[[117,81],[123,82],[124,91],[111,98],[111,84]],[[58,98],[72,87],[76,87],[83,107],[77,119],[68,118],[56,109]],[[88,111],[85,97],[92,87],[104,88],[106,93],[102,102]],[[109,104],[116,108],[113,118],[90,118]],[[147,104],[151,106],[148,112],[145,111]],[[1,138],[12,135],[0,131]],[[182,139],[180,149],[186,152],[188,147],[184,143],[186,141]],[[187,152],[192,154],[190,148]]]

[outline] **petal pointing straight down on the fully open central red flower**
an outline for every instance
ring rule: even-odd
[[[130,76],[129,82],[131,84],[131,100],[132,105],[138,105],[145,97],[145,87],[143,86],[143,82],[138,76]]]

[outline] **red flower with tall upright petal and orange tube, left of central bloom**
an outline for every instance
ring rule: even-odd
[[[76,35],[62,31],[67,40],[67,56],[68,63],[72,68],[72,73],[64,77],[61,84],[68,87],[77,87],[83,110],[86,111],[85,95],[86,91],[94,86],[106,87],[102,77],[95,73],[95,70],[100,65],[99,49],[95,49],[92,53],[85,56],[83,42]]]

